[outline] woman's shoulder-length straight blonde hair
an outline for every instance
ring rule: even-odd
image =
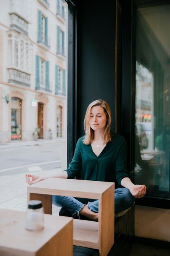
[[[94,106],[100,106],[104,109],[104,113],[106,114],[106,126],[104,131],[104,142],[108,143],[111,141],[111,133],[110,133],[110,126],[111,126],[111,111],[110,106],[107,101],[104,101],[102,99],[97,99],[96,101],[91,102],[86,110],[86,115],[84,117],[84,130],[85,130],[85,136],[83,143],[86,145],[91,144],[93,138],[94,138],[94,130],[90,127],[89,119],[91,114],[91,108]]]

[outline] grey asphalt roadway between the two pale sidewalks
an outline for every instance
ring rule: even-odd
[[[0,175],[22,171],[42,171],[61,167],[58,150],[61,144],[24,146],[0,150]]]

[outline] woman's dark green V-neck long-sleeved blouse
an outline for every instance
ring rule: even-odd
[[[127,144],[124,137],[113,134],[112,141],[106,144],[98,157],[91,144],[83,144],[83,139],[84,137],[81,137],[77,141],[73,159],[65,170],[68,179],[74,179],[79,174],[82,180],[115,182],[116,188],[121,187],[121,180],[129,177],[126,168]]]

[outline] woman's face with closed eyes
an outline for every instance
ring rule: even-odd
[[[101,106],[92,107],[89,120],[90,127],[93,130],[104,129],[107,121],[104,109]]]

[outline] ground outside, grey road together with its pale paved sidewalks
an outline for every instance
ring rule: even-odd
[[[66,166],[64,163],[61,168],[61,162],[66,161],[65,152],[66,142],[0,146],[0,209],[26,211],[28,185],[25,174],[41,176],[60,172]],[[58,207],[53,207],[54,214],[58,211]]]

